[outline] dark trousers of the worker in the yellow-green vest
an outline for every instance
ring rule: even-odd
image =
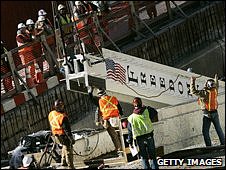
[[[159,169],[156,152],[155,152],[155,141],[153,133],[138,136],[136,138],[137,145],[139,146],[141,161],[144,169]],[[152,159],[153,164],[150,165],[149,159]]]

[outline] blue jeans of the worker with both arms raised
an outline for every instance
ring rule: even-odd
[[[206,144],[206,146],[212,145],[209,130],[210,130],[211,122],[213,122],[217,135],[220,139],[220,144],[224,145],[225,137],[224,137],[224,133],[221,128],[221,125],[220,125],[218,112],[217,112],[217,110],[214,112],[213,111],[209,112],[207,110],[204,110],[204,114],[208,114],[208,113],[209,113],[209,117],[203,116],[203,125],[202,125],[202,134],[204,137],[205,144]]]

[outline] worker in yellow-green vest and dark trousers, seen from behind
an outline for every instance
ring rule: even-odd
[[[133,142],[136,140],[144,169],[158,169],[152,124],[158,112],[150,106],[144,106],[139,97],[133,99],[133,106],[133,113],[128,117],[127,142],[130,147],[134,147]],[[152,165],[149,159],[153,161]]]

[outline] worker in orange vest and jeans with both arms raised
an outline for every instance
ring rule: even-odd
[[[218,76],[217,74],[215,74],[214,79],[208,79],[205,83],[204,88],[201,90],[196,89],[195,80],[196,77],[191,77],[190,91],[191,94],[199,97],[198,102],[201,110],[203,111],[202,134],[205,144],[206,146],[212,146],[209,135],[210,125],[212,122],[220,139],[220,144],[224,145],[225,137],[220,125],[219,115],[217,111],[217,95],[219,88]]]

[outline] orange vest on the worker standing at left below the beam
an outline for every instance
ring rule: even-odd
[[[52,128],[52,133],[54,135],[63,135],[64,134],[64,129],[62,128],[63,124],[63,119],[65,115],[63,113],[57,112],[55,110],[51,111],[49,113],[49,123]]]

